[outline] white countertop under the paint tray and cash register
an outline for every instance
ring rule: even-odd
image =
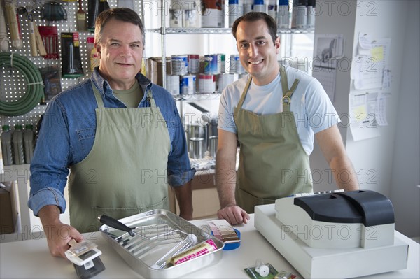
[[[207,220],[192,221],[197,227],[207,225]],[[272,264],[277,271],[299,273],[284,259],[254,227],[254,215],[246,225],[236,227],[241,231],[241,246],[236,250],[223,251],[223,258],[214,266],[187,274],[183,278],[248,278],[244,268],[255,266],[256,259]],[[399,234],[398,232],[395,232]],[[85,238],[97,243],[100,256],[106,267],[95,278],[141,278],[120,255],[95,232],[85,234]],[[401,235],[402,236],[402,235]],[[1,237],[1,236],[0,236]],[[420,278],[419,243],[402,236],[409,244],[407,269],[381,273],[365,278]],[[77,278],[71,262],[52,257],[45,238],[29,241],[15,241],[0,244],[0,278]]]

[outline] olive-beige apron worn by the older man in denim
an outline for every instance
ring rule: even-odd
[[[94,144],[83,161],[71,166],[70,224],[80,232],[97,231],[97,216],[123,218],[155,208],[169,209],[166,122],[151,90],[150,108],[104,108],[97,100]]]

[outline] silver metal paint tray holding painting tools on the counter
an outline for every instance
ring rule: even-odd
[[[119,221],[128,227],[135,227],[134,231],[144,237],[137,234],[132,237],[125,231],[113,229],[105,224],[99,231],[125,262],[144,278],[185,276],[204,266],[216,264],[222,258],[223,241],[168,210],[150,210]],[[171,267],[164,266],[160,269],[155,265],[159,260],[165,261],[168,253],[192,238],[191,234],[197,237],[197,243],[211,238],[218,249]]]

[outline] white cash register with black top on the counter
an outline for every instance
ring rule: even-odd
[[[370,190],[295,194],[255,206],[255,228],[304,278],[353,278],[407,268],[386,196]]]

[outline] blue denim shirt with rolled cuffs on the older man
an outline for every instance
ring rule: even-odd
[[[184,185],[193,179],[195,169],[190,166],[186,136],[175,101],[167,90],[151,83],[140,73],[136,78],[144,92],[139,108],[150,106],[146,94],[148,90],[152,90],[156,106],[160,108],[167,122],[172,143],[168,156],[168,183],[173,187]],[[63,193],[69,166],[85,159],[92,149],[97,124],[97,101],[91,80],[102,95],[106,108],[126,107],[114,96],[109,83],[99,75],[97,69],[90,79],[64,90],[50,101],[43,116],[31,162],[28,206],[36,216],[47,205],[58,206],[61,213],[64,213],[66,201]]]

